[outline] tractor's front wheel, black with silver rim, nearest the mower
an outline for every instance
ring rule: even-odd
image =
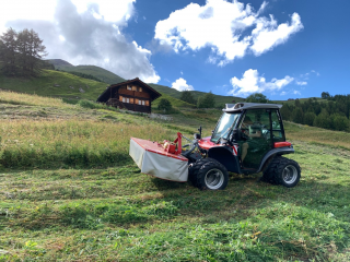
[[[200,190],[225,189],[229,182],[226,168],[215,159],[209,157],[207,159],[210,160],[207,160],[196,174],[197,188]]]

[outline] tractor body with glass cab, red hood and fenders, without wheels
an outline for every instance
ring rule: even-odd
[[[285,142],[281,107],[277,104],[226,104],[211,138],[200,140],[198,145],[229,171],[259,172],[273,156],[294,152],[291,143]]]

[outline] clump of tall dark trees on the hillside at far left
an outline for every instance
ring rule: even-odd
[[[47,67],[43,39],[33,29],[20,32],[9,28],[0,36],[0,68],[9,76],[36,76]]]

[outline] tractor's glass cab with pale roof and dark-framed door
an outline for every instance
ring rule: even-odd
[[[268,152],[290,145],[285,144],[281,107],[276,104],[228,104],[210,141],[237,145],[242,171],[257,171]]]

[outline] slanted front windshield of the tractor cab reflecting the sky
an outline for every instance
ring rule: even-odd
[[[223,112],[212,133],[211,141],[215,143],[219,139],[228,139],[230,129],[236,124],[240,116],[241,112]]]

